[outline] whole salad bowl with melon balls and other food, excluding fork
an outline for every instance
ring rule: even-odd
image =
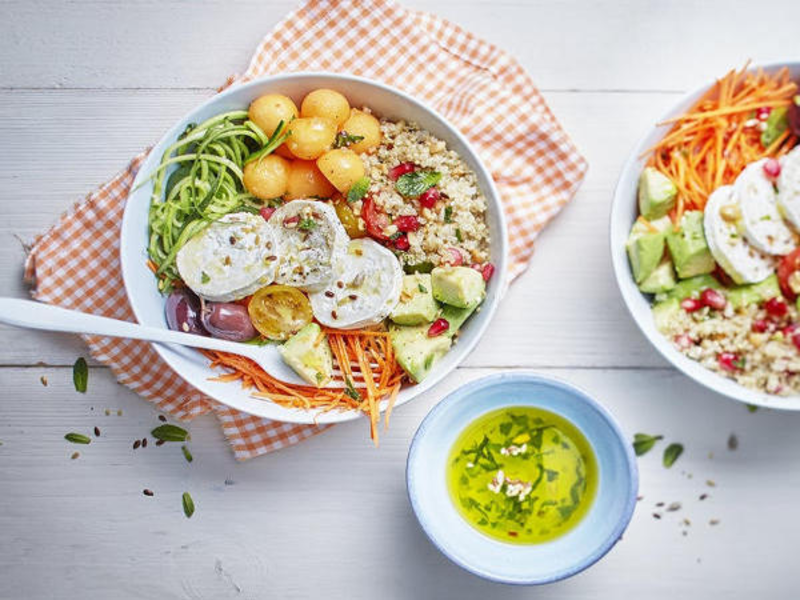
[[[234,86],[164,136],[121,262],[140,323],[282,363],[157,345],[194,387],[282,421],[366,414],[376,437],[381,410],[477,343],[506,247],[492,179],[444,118],[382,84],[299,73]]]

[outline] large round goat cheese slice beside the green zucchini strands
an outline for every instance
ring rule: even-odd
[[[178,272],[198,296],[230,302],[275,279],[276,242],[260,216],[232,213],[190,238],[178,251]]]

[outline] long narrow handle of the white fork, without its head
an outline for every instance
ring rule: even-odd
[[[0,298],[0,323],[28,329],[88,333],[247,354],[247,348],[238,342],[149,327],[18,298]]]

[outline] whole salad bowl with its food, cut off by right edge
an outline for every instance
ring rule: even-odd
[[[638,144],[611,211],[625,303],[681,371],[800,410],[800,63],[731,71]]]

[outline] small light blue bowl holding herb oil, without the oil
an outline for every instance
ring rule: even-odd
[[[458,513],[447,489],[447,458],[464,428],[487,412],[513,406],[560,415],[581,431],[597,459],[598,488],[589,512],[549,542],[509,544],[487,537]],[[406,480],[422,529],[450,560],[491,581],[539,585],[587,569],[614,546],[633,515],[639,476],[630,442],[597,401],[564,382],[513,373],[470,382],[442,400],[411,442]]]

